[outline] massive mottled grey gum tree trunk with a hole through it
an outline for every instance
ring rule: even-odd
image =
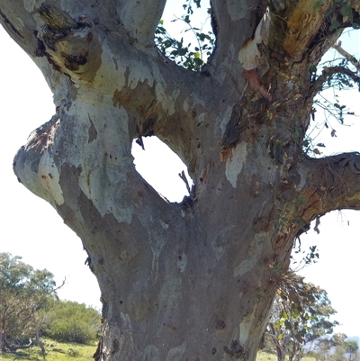
[[[165,1],[0,0],[56,105],[14,171],[84,243],[102,292],[98,360],[254,360],[294,237],[360,207],[357,154],[302,152],[321,87],[310,68],[341,33],[314,41],[329,4],[263,3],[213,0],[216,50],[192,73],[153,45]],[[135,170],[131,142],[152,132],[193,178],[182,203]]]

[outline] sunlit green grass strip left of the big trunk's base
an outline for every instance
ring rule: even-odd
[[[0,361],[90,361],[94,360],[97,341],[94,340],[89,345],[80,345],[46,339],[44,345],[47,349],[45,358],[40,353],[40,347],[31,347],[15,353],[0,354]]]

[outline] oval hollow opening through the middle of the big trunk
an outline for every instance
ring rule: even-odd
[[[144,149],[132,143],[131,154],[135,158],[134,164],[139,174],[159,194],[170,202],[182,202],[185,195],[189,195],[184,180],[179,176],[183,171],[190,187],[192,178],[187,172],[183,161],[168,146],[157,137],[147,137]]]

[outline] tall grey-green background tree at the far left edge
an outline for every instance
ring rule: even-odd
[[[56,291],[53,275],[34,269],[0,253],[0,349],[14,350],[28,343],[39,329],[37,313],[45,309]]]

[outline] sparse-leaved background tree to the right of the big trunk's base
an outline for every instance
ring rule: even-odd
[[[284,276],[266,329],[278,360],[284,361],[286,355],[290,361],[299,360],[305,344],[331,334],[338,324],[329,320],[334,313],[325,290],[294,273]]]

